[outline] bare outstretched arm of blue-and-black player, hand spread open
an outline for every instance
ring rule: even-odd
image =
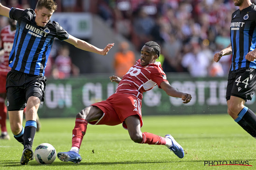
[[[114,43],[108,44],[104,49],[99,49],[89,43],[87,43],[84,40],[78,39],[72,35],[69,35],[68,39],[65,39],[64,41],[68,42],[69,44],[72,44],[76,48],[79,48],[81,50],[94,52],[100,55],[106,55],[108,54],[109,50],[114,46]]]

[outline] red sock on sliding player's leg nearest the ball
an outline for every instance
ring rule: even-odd
[[[72,131],[72,147],[78,147],[80,149],[83,137],[87,129],[88,122],[81,118],[75,119],[75,127]]]

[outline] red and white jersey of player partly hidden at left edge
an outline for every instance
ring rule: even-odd
[[[11,31],[10,25],[4,27],[0,32],[1,47],[4,50],[4,55],[0,57],[0,74],[7,75],[11,71],[8,61],[10,52],[12,51],[15,32],[16,30]]]

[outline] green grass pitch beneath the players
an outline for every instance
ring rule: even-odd
[[[0,140],[0,169],[12,170],[144,170],[144,169],[255,169],[256,141],[227,114],[144,116],[142,132],[160,136],[171,134],[185,150],[180,159],[165,146],[134,143],[122,125],[88,125],[80,155],[82,162],[61,162],[57,157],[50,165],[31,160],[20,165],[23,146],[13,136]],[[41,119],[42,129],[34,138],[33,150],[40,143],[52,144],[57,152],[71,148],[75,118]],[[25,121],[23,122],[25,124]],[[7,122],[10,131],[9,122]],[[204,161],[247,161],[252,166],[208,166]]]

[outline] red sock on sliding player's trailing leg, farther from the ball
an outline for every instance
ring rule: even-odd
[[[142,141],[140,143],[147,143],[148,145],[165,145],[166,140],[164,137],[155,135],[153,133],[142,133]]]

